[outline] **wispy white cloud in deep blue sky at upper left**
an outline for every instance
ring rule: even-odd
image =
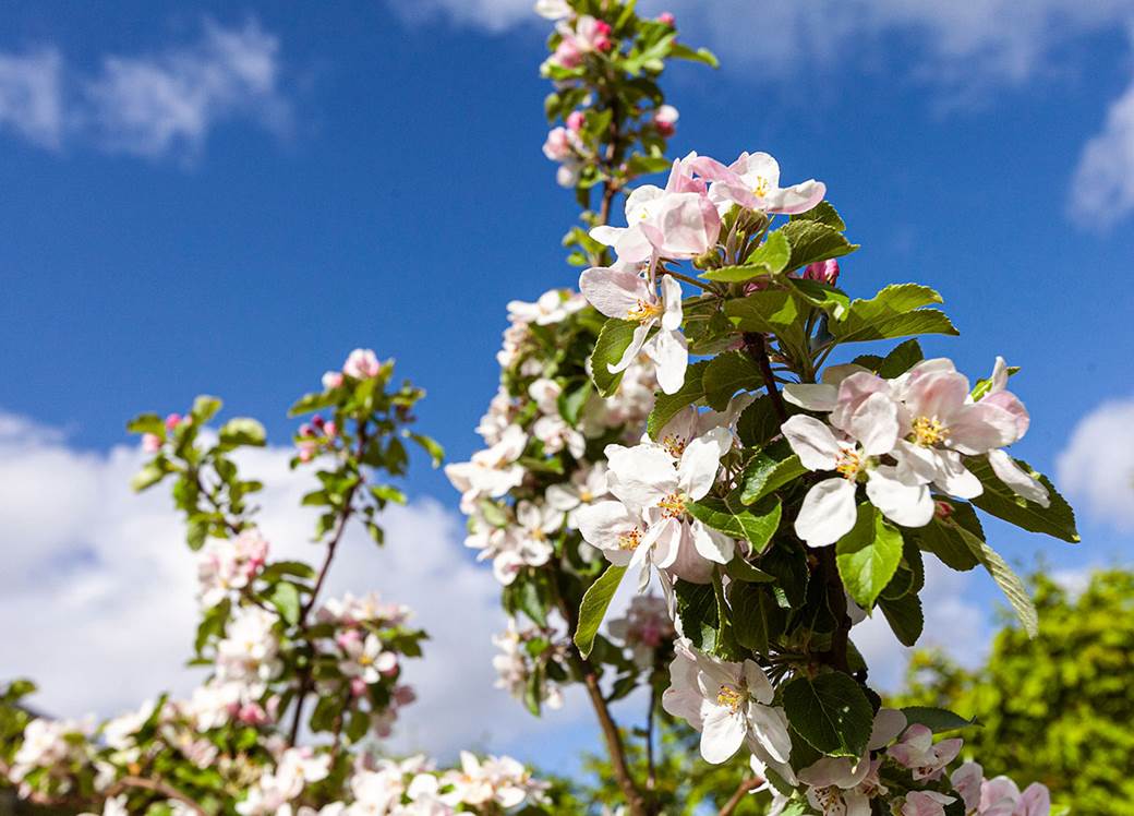
[[[279,40],[255,22],[226,28],[206,20],[192,44],[109,54],[91,75],[69,69],[53,48],[0,53],[0,126],[49,149],[91,143],[110,153],[192,159],[226,121],[286,132],[279,51]]]

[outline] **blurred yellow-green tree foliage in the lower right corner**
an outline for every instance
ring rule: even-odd
[[[1040,632],[1006,625],[984,665],[915,653],[897,705],[975,716],[965,756],[985,776],[1039,781],[1076,816],[1134,815],[1134,572],[1102,570],[1082,592],[1032,577]]]

